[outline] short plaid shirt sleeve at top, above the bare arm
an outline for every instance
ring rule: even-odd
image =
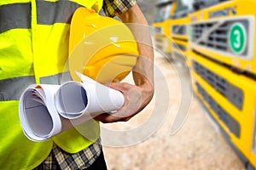
[[[124,13],[136,3],[136,0],[103,0],[102,8],[107,16],[114,17]]]

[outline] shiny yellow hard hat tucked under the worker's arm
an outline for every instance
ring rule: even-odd
[[[69,39],[69,71],[97,82],[119,82],[137,62],[137,42],[131,30],[119,20],[94,10],[78,8],[73,14]]]

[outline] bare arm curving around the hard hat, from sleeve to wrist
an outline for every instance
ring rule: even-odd
[[[130,27],[134,37],[137,40],[140,56],[137,59],[137,65],[133,69],[134,82],[137,86],[154,88],[154,50],[148,28],[148,22],[145,19],[140,8],[135,5],[119,18]]]

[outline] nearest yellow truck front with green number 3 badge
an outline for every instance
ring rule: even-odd
[[[256,1],[195,0],[189,14],[193,89],[248,169],[256,167]]]

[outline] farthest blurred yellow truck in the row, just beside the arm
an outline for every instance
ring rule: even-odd
[[[154,20],[154,46],[157,50],[170,56],[170,20],[168,20],[172,8],[172,0],[160,0],[157,4],[157,13]]]

